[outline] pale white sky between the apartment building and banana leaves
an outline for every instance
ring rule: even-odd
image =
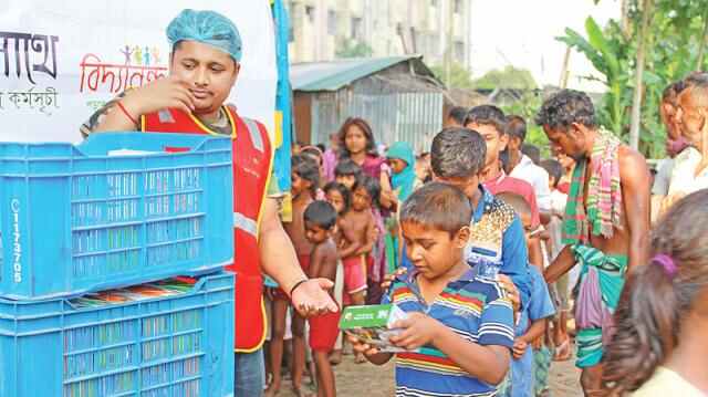
[[[479,77],[507,65],[527,69],[539,85],[559,85],[565,44],[555,40],[571,28],[585,36],[585,19],[601,27],[620,18],[620,0],[471,0],[471,69]],[[597,72],[583,54],[570,59],[569,87],[604,92],[580,76]]]

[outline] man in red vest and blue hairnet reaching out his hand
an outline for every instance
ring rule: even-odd
[[[209,134],[233,145],[236,279],[236,396],[261,396],[266,337],[262,285],[266,273],[308,316],[336,311],[325,292],[332,283],[308,280],[278,217],[272,147],[260,123],[225,105],[241,67],[236,25],[214,11],[184,10],[167,28],[169,77],[127,91],[100,109],[82,133],[136,130]]]

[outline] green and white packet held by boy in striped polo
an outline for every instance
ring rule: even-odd
[[[347,306],[342,311],[340,330],[381,352],[399,353],[406,349],[394,346],[388,339],[402,330],[389,330],[388,326],[406,317],[406,312],[394,304]]]

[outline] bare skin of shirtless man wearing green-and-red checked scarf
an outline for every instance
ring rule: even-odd
[[[595,139],[596,129],[587,128],[583,124],[573,123],[568,132],[543,126],[545,135],[553,150],[564,153],[575,158],[590,158]],[[622,229],[615,228],[614,236],[605,239],[602,236],[591,236],[592,247],[607,254],[627,255],[628,271],[647,262],[649,233],[649,169],[644,157],[628,146],[620,147],[620,179],[622,186]],[[589,165],[589,168],[591,165]],[[585,184],[590,178],[585,178]],[[587,192],[585,186],[585,192]],[[587,194],[585,194],[587,195]],[[587,202],[587,196],[584,198]],[[585,205],[586,206],[586,205]],[[575,258],[570,245],[565,247],[558,258],[545,270],[544,278],[550,284],[555,282],[575,265]],[[602,365],[583,369],[581,384],[586,395],[604,395],[602,389]]]

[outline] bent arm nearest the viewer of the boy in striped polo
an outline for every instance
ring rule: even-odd
[[[508,323],[511,324],[511,307],[508,307]],[[407,318],[396,322],[393,327],[404,328],[399,335],[391,337],[396,346],[413,351],[433,344],[470,376],[492,385],[501,383],[507,375],[509,347],[513,343],[510,337],[509,346],[471,343],[445,324],[419,312],[409,313]],[[509,331],[513,332],[511,326]]]

